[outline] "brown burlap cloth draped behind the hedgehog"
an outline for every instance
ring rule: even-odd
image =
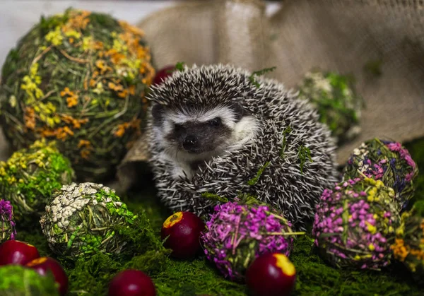
[[[177,61],[276,66],[267,76],[287,88],[314,68],[353,74],[366,107],[360,136],[338,148],[340,164],[368,138],[424,136],[422,0],[285,0],[271,17],[258,0],[185,1],[138,25],[158,68]],[[147,157],[141,137],[119,167],[124,188]]]

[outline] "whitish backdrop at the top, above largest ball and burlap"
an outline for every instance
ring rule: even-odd
[[[201,0],[199,0],[201,1]],[[136,24],[154,11],[174,6],[178,1],[136,0],[0,0],[0,67],[8,52],[16,46],[40,16],[62,13],[66,8],[110,13],[117,19]],[[267,4],[267,13],[276,10],[278,4]]]

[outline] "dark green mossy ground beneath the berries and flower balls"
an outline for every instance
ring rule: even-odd
[[[406,143],[420,168],[417,190],[413,201],[424,199],[424,138]],[[149,184],[149,185],[147,185]],[[151,182],[122,197],[134,212],[145,211],[159,237],[163,221],[170,215],[154,198]],[[412,204],[412,203],[411,203]],[[410,206],[411,206],[410,204]],[[20,230],[18,239],[34,244],[42,256],[53,256],[45,239],[37,230]],[[296,295],[424,295],[399,264],[391,264],[383,271],[345,271],[331,268],[315,254],[312,239],[302,237],[295,243],[290,259],[297,269]],[[112,261],[107,256],[68,267],[70,295],[101,295],[107,290],[110,278],[126,267],[146,271],[157,288],[158,296],[166,295],[247,295],[245,285],[225,280],[204,257],[192,261],[177,261],[158,252],[148,252],[131,262]]]

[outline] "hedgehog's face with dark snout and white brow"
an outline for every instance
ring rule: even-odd
[[[172,109],[155,104],[153,126],[168,154],[186,160],[219,155],[235,139],[237,124],[248,114],[238,104],[216,107],[183,105]]]

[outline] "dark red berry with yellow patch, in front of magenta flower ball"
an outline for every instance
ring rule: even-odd
[[[280,253],[259,256],[246,272],[247,287],[257,296],[290,295],[295,280],[295,266]]]

